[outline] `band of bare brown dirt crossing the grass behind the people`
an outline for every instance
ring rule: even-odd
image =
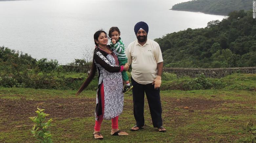
[[[181,108],[194,112],[194,110],[207,110],[211,108],[220,107],[225,101],[214,100],[202,100],[202,99],[175,99],[175,98],[163,98],[163,109],[170,109],[170,112],[174,108]],[[164,103],[163,103],[164,102]],[[147,101],[145,99],[145,106]],[[76,118],[76,117],[92,117],[94,116],[95,99],[94,98],[68,98],[68,99],[51,99],[42,101],[33,100],[9,100],[0,99],[1,116],[8,118],[8,122],[26,120],[29,117],[35,116],[36,107],[45,109],[47,114],[51,115],[51,118]],[[124,110],[131,110],[133,108],[132,101],[126,100],[124,102]],[[169,114],[170,115],[170,114]]]

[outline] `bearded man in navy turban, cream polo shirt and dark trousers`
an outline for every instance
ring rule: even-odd
[[[126,49],[128,65],[132,64],[133,113],[136,125],[131,131],[143,129],[144,126],[144,92],[146,92],[153,126],[159,132],[165,132],[162,126],[162,107],[160,102],[160,85],[163,71],[163,58],[157,42],[147,38],[148,25],[139,22],[134,26],[137,40]]]

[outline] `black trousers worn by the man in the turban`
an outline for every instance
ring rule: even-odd
[[[160,102],[160,89],[154,89],[154,85],[139,84],[132,79],[133,85],[133,114],[136,125],[144,126],[144,92],[146,92],[149,110],[153,126],[159,128],[162,126],[162,107]]]

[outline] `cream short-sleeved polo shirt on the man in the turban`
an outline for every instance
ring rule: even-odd
[[[135,40],[128,45],[125,54],[128,64],[132,64],[132,78],[139,84],[152,83],[157,77],[157,63],[163,61],[159,44],[147,39],[141,46],[138,40]]]

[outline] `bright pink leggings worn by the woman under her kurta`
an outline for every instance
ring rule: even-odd
[[[95,121],[94,130],[100,131],[100,125],[103,120],[104,115],[104,86],[103,83],[100,86],[100,98],[101,98],[101,107],[102,107],[102,115],[99,116],[99,119]],[[111,119],[112,120],[112,129],[118,129],[118,116]]]

